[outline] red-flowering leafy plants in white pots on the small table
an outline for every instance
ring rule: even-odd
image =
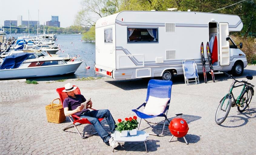
[[[132,130],[138,127],[137,117],[133,116],[133,118],[125,118],[125,120],[118,119],[119,123],[116,123],[117,127],[115,130],[121,132],[123,130]]]

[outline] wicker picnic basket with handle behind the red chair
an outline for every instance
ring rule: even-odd
[[[57,99],[54,99],[55,101]],[[48,122],[53,122],[53,123],[62,123],[66,120],[66,116],[64,115],[64,109],[61,105],[61,101],[59,100],[59,104],[52,103],[45,106],[46,110],[46,116],[47,116],[47,121]]]

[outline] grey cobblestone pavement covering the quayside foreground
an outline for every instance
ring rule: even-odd
[[[243,75],[256,75],[256,66],[248,66]],[[77,81],[68,79],[65,82],[49,83],[39,81],[37,85],[29,85],[24,81],[0,81],[0,150],[1,154],[254,154],[256,127],[256,98],[253,96],[250,110],[239,113],[231,108],[228,118],[218,126],[214,116],[218,103],[228,92],[232,80],[218,74],[213,83],[185,86],[183,76],[175,76],[171,93],[171,106],[168,118],[176,113],[183,113],[189,131],[186,135],[189,145],[181,138],[173,138],[165,127],[165,136],[149,136],[148,153],[143,142],[122,142],[121,147],[112,152],[110,146],[102,142],[98,135],[82,139],[74,128],[62,131],[70,121],[56,124],[48,123],[45,106],[58,98],[55,89],[71,82],[81,89],[81,93],[93,102],[95,109],[109,109],[115,119],[134,116],[131,109],[137,108],[146,98],[149,79],[115,81],[109,78],[93,81]],[[244,79],[244,77],[239,77]],[[256,78],[251,80],[256,84]],[[239,91],[235,91],[235,96]],[[154,119],[161,122],[161,119]],[[102,121],[109,131],[106,120]],[[141,130],[161,132],[161,126],[149,126],[142,120]],[[92,125],[78,126],[83,134],[93,133]]]

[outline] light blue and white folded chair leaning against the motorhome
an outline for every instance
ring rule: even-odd
[[[185,85],[198,84],[199,76],[197,73],[197,65],[193,59],[183,60],[182,68],[184,73]]]

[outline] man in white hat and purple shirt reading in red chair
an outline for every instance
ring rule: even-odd
[[[94,127],[101,139],[105,143],[109,143],[109,145],[113,148],[118,147],[120,144],[118,142],[115,143],[113,137],[111,137],[106,130],[102,127],[98,118],[104,118],[107,120],[108,125],[110,127],[111,133],[115,132],[115,120],[113,119],[109,110],[88,110],[84,109],[84,106],[81,103],[85,102],[86,99],[83,95],[75,94],[74,90],[76,86],[72,86],[70,83],[65,84],[65,89],[63,92],[68,94],[68,97],[63,101],[64,113],[65,116],[77,115],[81,118],[86,118]],[[92,102],[89,101],[87,103],[88,108],[92,107]]]

